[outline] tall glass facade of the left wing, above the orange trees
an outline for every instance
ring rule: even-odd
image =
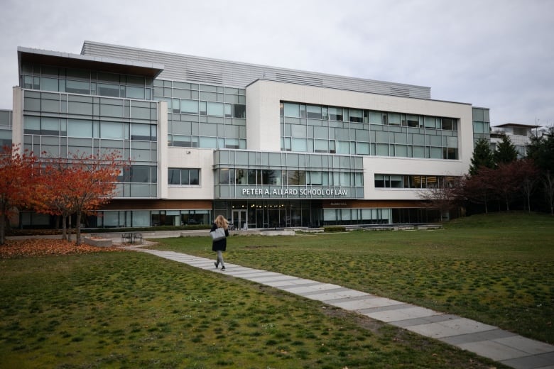
[[[145,99],[151,79],[33,64],[22,71],[23,148],[62,158],[115,151],[130,163],[116,197],[158,196],[158,104]]]

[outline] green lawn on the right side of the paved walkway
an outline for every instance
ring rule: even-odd
[[[165,248],[213,257],[209,238]],[[436,231],[233,236],[230,263],[307,277],[554,343],[554,217],[506,213]]]

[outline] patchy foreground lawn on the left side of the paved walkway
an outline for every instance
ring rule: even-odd
[[[320,302],[132,251],[0,260],[0,358],[0,368],[503,368]]]

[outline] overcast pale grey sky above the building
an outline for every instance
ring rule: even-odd
[[[431,87],[491,124],[554,125],[554,0],[0,0],[0,109],[17,47],[84,40]]]

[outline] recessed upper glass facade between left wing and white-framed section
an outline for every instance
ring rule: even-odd
[[[244,89],[156,79],[154,98],[168,103],[168,145],[246,149]]]

